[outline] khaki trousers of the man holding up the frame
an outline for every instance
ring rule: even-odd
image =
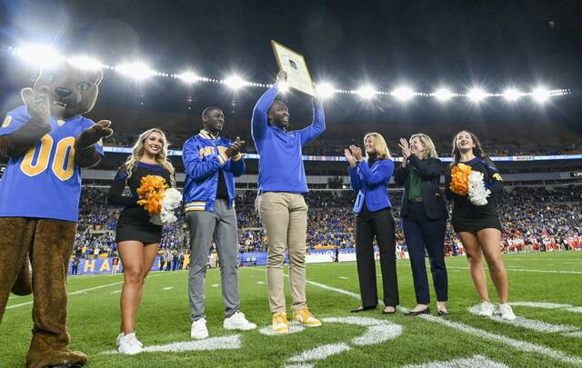
[[[268,236],[266,283],[271,313],[285,313],[285,249],[289,253],[292,308],[306,308],[307,204],[302,194],[266,192],[256,197],[256,210]]]

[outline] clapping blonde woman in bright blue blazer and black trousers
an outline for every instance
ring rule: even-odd
[[[381,134],[369,133],[364,137],[366,159],[362,150],[350,145],[345,150],[349,163],[349,180],[358,191],[356,213],[356,264],[362,304],[357,313],[375,309],[378,303],[374,239],[380,251],[380,268],[384,287],[384,313],[396,312],[399,303],[396,279],[396,235],[392,204],[388,197],[388,183],[394,171],[394,162]]]

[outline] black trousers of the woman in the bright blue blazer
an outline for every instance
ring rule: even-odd
[[[362,212],[356,214],[356,264],[363,307],[378,303],[374,238],[380,250],[384,304],[396,306],[400,303],[396,278],[396,235],[394,217],[389,208],[372,213],[364,206]]]

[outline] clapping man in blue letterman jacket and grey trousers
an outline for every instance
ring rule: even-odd
[[[240,312],[238,297],[238,230],[235,213],[235,176],[245,173],[240,151],[245,141],[220,136],[225,115],[217,107],[202,113],[204,129],[186,141],[182,153],[186,183],[184,206],[190,228],[190,337],[208,337],[204,313],[204,280],[210,242],[215,241],[220,262],[222,296],[226,304],[223,327],[227,330],[252,330],[255,323]]]

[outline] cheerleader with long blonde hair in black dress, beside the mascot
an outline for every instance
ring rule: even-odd
[[[109,204],[125,205],[117,220],[115,243],[124,266],[121,290],[121,333],[117,336],[119,353],[135,354],[143,344],[135,337],[135,315],[142,298],[144,283],[162,239],[162,226],[150,223],[146,210],[137,204],[137,188],[146,175],[158,175],[169,186],[175,185],[174,166],[167,159],[166,135],[150,129],[139,136],[133,153],[115,175],[109,189]],[[129,186],[131,195],[123,195]]]

